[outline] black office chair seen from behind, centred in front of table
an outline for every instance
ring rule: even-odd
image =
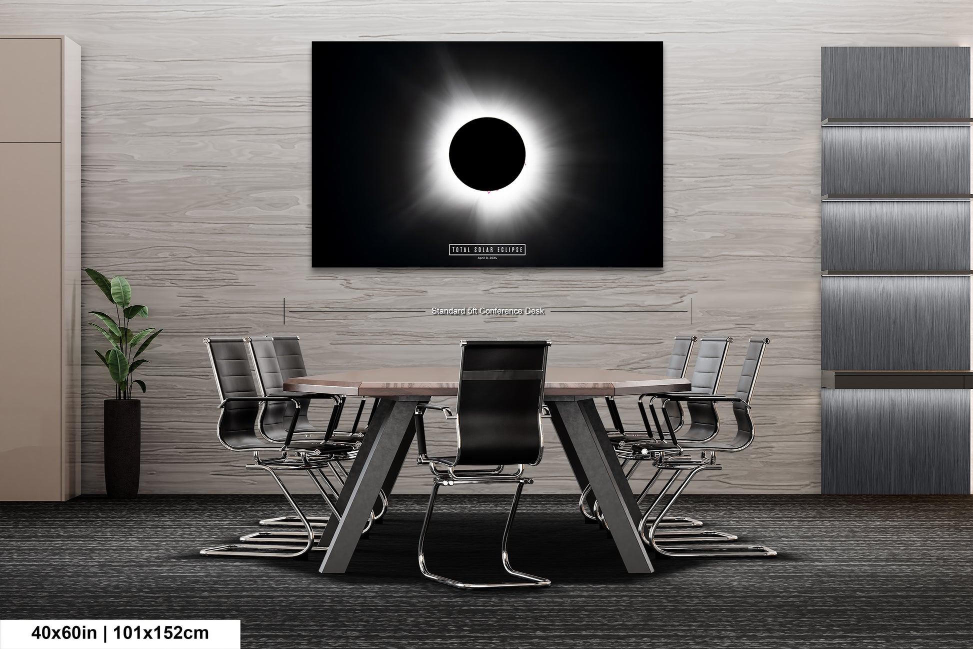
[[[512,568],[507,553],[523,485],[533,482],[523,477],[523,466],[539,463],[544,451],[541,417],[545,410],[544,377],[550,345],[550,341],[464,340],[455,414],[446,406],[428,403],[417,406],[418,461],[428,464],[433,474],[429,507],[419,534],[419,570],[425,577],[461,589],[551,585],[550,580]],[[448,457],[427,454],[422,415],[428,409],[440,410],[455,422],[455,454]],[[517,470],[508,472],[506,467],[511,465],[517,465]],[[474,584],[436,575],[426,566],[423,544],[440,486],[477,482],[517,483],[503,530],[500,556],[504,569],[524,581]]]

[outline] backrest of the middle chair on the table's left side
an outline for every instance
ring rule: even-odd
[[[301,343],[297,336],[251,336],[246,338],[250,355],[257,368],[257,379],[264,397],[283,392],[284,381],[295,376],[306,376]],[[287,367],[285,370],[281,365]],[[312,428],[307,419],[307,401],[295,425],[296,430]],[[260,430],[264,437],[282,441],[287,439],[287,423],[294,416],[291,401],[265,403],[260,411]]]

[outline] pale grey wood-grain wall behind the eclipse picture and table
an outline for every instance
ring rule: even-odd
[[[56,26],[84,48],[83,261],[124,274],[150,306],[147,324],[165,329],[143,376],[143,491],[273,491],[216,442],[201,339],[278,331],[301,335],[320,371],[450,363],[459,338],[506,335],[551,337],[552,363],[662,369],[673,335],[765,334],[774,342],[754,401],[757,440],[693,489],[797,493],[820,488],[819,48],[958,45],[973,31],[973,7],[53,0],[3,3],[0,23],[19,33]],[[665,268],[312,270],[315,39],[665,41]],[[285,326],[284,297],[289,307],[378,313],[289,311]],[[690,301],[692,314],[678,311]],[[455,303],[676,312],[381,311]],[[104,306],[97,288],[84,286],[83,306]],[[110,394],[92,332],[83,339],[89,493],[103,489],[101,400]],[[743,348],[731,347],[731,384]],[[636,422],[633,403],[623,406]],[[574,492],[554,446],[533,490]],[[429,476],[407,465],[400,488],[427,492]]]

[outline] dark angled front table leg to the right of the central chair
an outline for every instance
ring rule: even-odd
[[[575,474],[575,477],[579,483],[582,480],[591,483],[598,508],[611,529],[625,567],[629,572],[653,572],[652,561],[636,529],[641,517],[638,503],[615,450],[608,442],[595,401],[545,401],[551,408],[551,419],[559,438],[570,441],[572,452],[584,472],[582,476]],[[573,469],[574,461],[570,456],[568,460]]]

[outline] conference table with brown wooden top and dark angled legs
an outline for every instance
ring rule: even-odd
[[[378,398],[337,509],[318,541],[328,551],[320,572],[342,573],[361,536],[362,521],[378,500],[391,493],[414,438],[415,405],[433,397],[455,397],[458,367],[388,367],[295,377],[284,390],[346,397]],[[631,573],[653,571],[636,529],[641,514],[631,487],[608,441],[595,399],[690,389],[684,378],[589,367],[548,367],[544,402],[578,486],[592,485],[592,498],[604,515],[625,566]],[[462,412],[459,412],[462,420]]]

